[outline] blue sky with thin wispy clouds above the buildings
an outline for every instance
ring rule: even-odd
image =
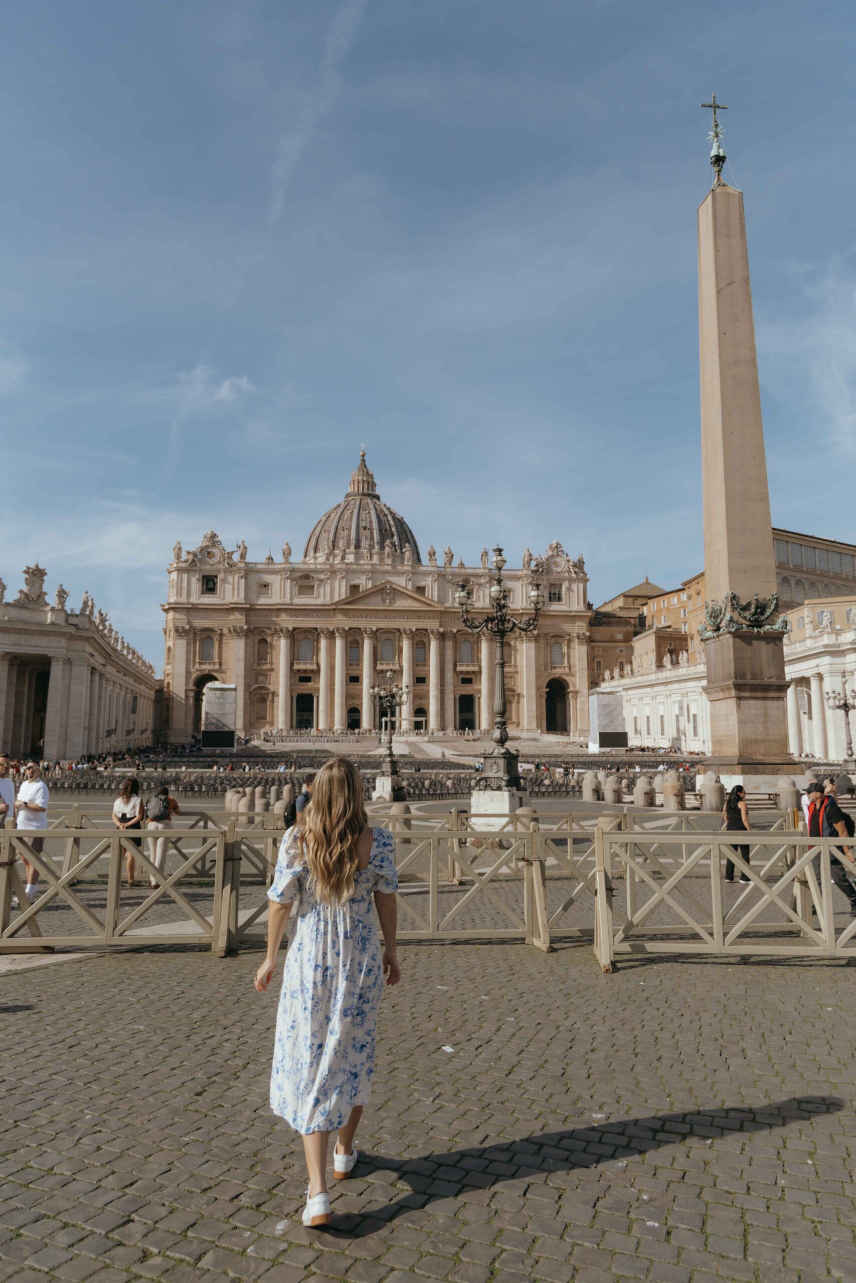
[[[172,544],[702,559],[696,208],[746,194],[774,521],[853,540],[852,4],[6,0],[0,576],[158,668]]]

